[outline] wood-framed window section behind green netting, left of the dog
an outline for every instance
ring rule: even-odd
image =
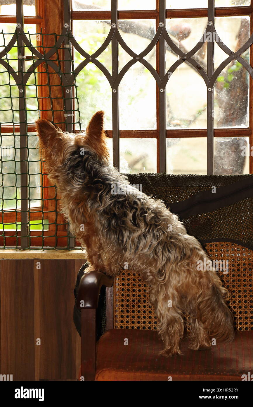
[[[67,247],[67,224],[58,214],[58,197],[40,161],[35,133],[39,117],[60,126],[65,121],[57,69],[39,63],[36,54],[47,53],[57,39],[52,31],[45,33],[52,26],[43,19],[49,6],[35,0],[2,1],[0,6],[0,246]]]

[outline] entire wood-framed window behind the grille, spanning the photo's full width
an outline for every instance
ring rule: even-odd
[[[104,109],[123,173],[253,172],[249,0],[56,4],[0,1],[1,247],[78,245],[39,158],[38,117],[78,132]]]

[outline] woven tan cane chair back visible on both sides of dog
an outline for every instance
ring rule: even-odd
[[[229,290],[236,329],[253,330],[253,250],[229,242],[206,243],[204,247],[211,260],[228,260],[228,273],[217,273]],[[149,287],[139,274],[123,271],[113,290],[114,328],[157,329]]]

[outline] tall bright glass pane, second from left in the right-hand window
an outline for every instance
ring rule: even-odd
[[[125,43],[137,54],[150,44],[155,33],[155,20],[120,20],[118,26]],[[131,59],[119,45],[119,71]],[[144,59],[155,69],[156,47]],[[119,127],[156,129],[156,81],[140,62],[134,63],[119,85]]]

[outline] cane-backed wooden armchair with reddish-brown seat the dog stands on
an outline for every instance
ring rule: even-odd
[[[248,205],[251,198],[242,198],[252,222],[253,205]],[[218,226],[217,229],[220,230]],[[229,306],[236,330],[234,341],[214,343],[210,350],[194,351],[187,347],[186,335],[182,340],[182,355],[158,356],[163,344],[154,309],[149,304],[147,283],[128,269],[117,278],[101,271],[89,271],[80,280],[77,298],[81,312],[81,380],[240,381],[252,371],[253,248],[250,243],[239,244],[224,236],[210,240],[203,243],[210,259],[229,262],[228,273],[222,270],[217,273],[230,292]],[[103,285],[107,287],[106,332],[96,341],[96,308]],[[186,330],[190,330],[187,315],[185,319]]]

